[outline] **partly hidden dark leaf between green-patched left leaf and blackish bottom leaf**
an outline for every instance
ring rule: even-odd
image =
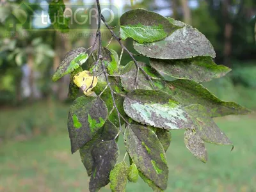
[[[119,129],[112,124],[109,120],[106,121],[104,127],[100,129],[97,134],[93,137],[92,140],[88,141],[84,145],[83,148],[80,148],[80,156],[82,163],[84,164],[84,167],[86,168],[86,171],[88,173],[88,176],[91,175],[92,173],[92,168],[93,168],[93,156],[92,156],[92,150],[97,143],[100,141],[109,141],[109,140],[114,140],[115,136],[118,134]]]

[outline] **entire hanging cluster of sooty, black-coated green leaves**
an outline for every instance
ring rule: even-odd
[[[125,191],[128,180],[136,182],[138,175],[154,191],[163,191],[172,131],[182,129],[184,145],[206,162],[205,142],[232,145],[212,118],[250,111],[218,99],[200,84],[225,76],[230,68],[214,63],[211,43],[192,26],[136,9],[120,18],[120,38],[132,38],[134,49],[150,63],[132,58],[121,66],[122,56],[108,47],[90,53],[80,47],[68,52],[53,76],[56,81],[71,74],[72,153],[81,154],[90,191],[109,182],[112,191]],[[84,93],[81,97],[77,97],[79,89]],[[130,166],[117,163],[116,140],[122,133]]]

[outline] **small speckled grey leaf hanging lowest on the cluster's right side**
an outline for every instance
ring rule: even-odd
[[[187,129],[184,134],[184,143],[188,150],[197,159],[206,163],[207,161],[207,150],[204,145],[204,141],[200,138],[195,130]]]

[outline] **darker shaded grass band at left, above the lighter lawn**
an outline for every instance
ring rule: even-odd
[[[26,107],[0,109],[0,141],[27,140],[36,135],[66,131],[69,105],[37,102]]]

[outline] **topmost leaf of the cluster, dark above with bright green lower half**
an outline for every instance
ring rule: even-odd
[[[175,29],[162,15],[143,9],[131,10],[120,18],[122,40],[133,38],[141,44],[162,40]]]

